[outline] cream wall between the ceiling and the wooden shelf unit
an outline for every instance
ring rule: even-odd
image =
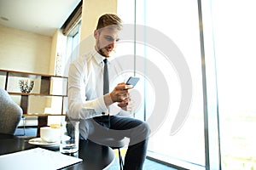
[[[49,74],[52,37],[0,26],[0,69]]]

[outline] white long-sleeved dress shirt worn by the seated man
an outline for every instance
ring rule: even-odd
[[[130,114],[130,112],[127,113],[128,111],[121,110],[117,104],[110,105],[108,108],[105,105],[103,99],[103,59],[105,58],[94,49],[74,60],[68,72],[67,115],[72,119],[79,119],[80,133],[84,139],[88,137],[90,118],[102,116],[102,112],[110,115]],[[108,58],[110,92],[117,85],[117,82],[125,81],[125,77],[119,74],[122,69],[117,60]]]

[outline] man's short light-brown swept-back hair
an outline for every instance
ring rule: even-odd
[[[119,30],[122,28],[122,20],[116,14],[103,14],[96,26],[96,30],[102,29],[106,26],[117,26]]]

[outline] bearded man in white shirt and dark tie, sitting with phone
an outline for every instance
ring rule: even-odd
[[[95,48],[76,59],[68,74],[68,116],[79,119],[82,139],[96,140],[97,137],[130,139],[125,155],[124,169],[143,169],[149,128],[147,123],[125,116],[129,105],[131,85],[118,83],[111,92],[104,92],[105,65],[108,79],[119,75],[119,64],[110,56],[119,41],[121,20],[116,14],[102,15],[94,31]],[[108,61],[106,60],[108,59]],[[115,115],[115,116],[113,116]]]

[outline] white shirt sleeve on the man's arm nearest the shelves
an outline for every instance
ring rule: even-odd
[[[72,63],[68,71],[68,116],[73,119],[89,119],[108,112],[103,96],[96,99],[86,99],[84,77],[86,78],[86,63],[82,59]]]

